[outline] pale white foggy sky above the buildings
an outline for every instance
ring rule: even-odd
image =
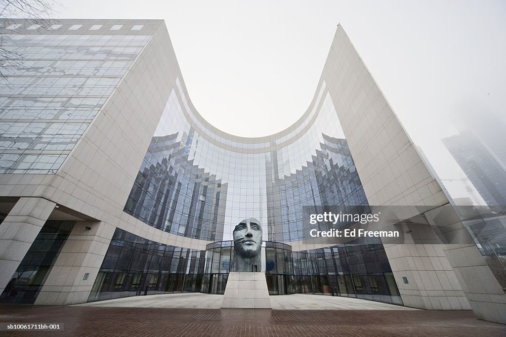
[[[230,134],[302,116],[338,23],[442,179],[462,176],[440,141],[462,111],[506,120],[504,1],[58,2],[60,18],[164,19],[194,106]]]

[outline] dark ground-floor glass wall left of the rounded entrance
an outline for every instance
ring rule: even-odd
[[[116,229],[88,301],[200,291],[205,251],[175,247]]]

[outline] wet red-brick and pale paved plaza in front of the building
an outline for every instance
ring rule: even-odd
[[[506,335],[506,325],[478,320],[471,311],[428,311],[366,300],[301,294],[273,296],[271,298],[273,310],[219,309],[221,297],[185,293],[67,307],[0,305],[0,322],[64,323],[64,330],[58,332],[1,331],[0,335],[192,337]],[[302,302],[294,304],[293,301]],[[199,303],[199,308],[203,309],[190,307]],[[289,309],[290,303],[296,306]],[[319,304],[319,308],[312,307],[316,303]],[[307,308],[304,309],[304,306]]]

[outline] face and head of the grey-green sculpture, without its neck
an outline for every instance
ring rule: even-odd
[[[262,227],[255,218],[242,220],[235,226],[234,246],[236,254],[245,258],[252,258],[260,253],[262,248]]]

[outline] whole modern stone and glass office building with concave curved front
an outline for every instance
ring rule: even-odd
[[[448,239],[468,232],[341,26],[306,112],[259,138],[200,116],[162,20],[5,20],[0,34],[23,56],[2,67],[2,302],[223,293],[234,226],[255,217],[273,296],[506,322],[501,286],[474,242]],[[374,207],[402,242],[310,236],[328,228],[308,212]]]

